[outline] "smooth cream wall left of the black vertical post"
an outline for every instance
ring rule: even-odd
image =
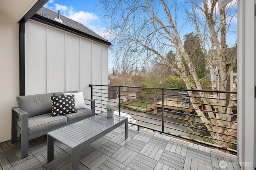
[[[0,142],[11,137],[11,108],[19,95],[19,24],[0,13]]]

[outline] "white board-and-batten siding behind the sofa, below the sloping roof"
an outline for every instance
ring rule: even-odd
[[[33,20],[25,31],[26,95],[78,90],[90,99],[89,84],[108,85],[108,45]]]

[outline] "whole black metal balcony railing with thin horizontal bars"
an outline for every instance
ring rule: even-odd
[[[144,127],[236,154],[236,92],[89,86],[96,113],[111,102],[119,115],[131,116],[129,123],[138,130]]]

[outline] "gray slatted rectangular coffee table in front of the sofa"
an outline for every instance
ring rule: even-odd
[[[72,114],[72,113],[71,113]],[[47,161],[53,160],[54,139],[72,148],[72,170],[78,170],[78,152],[125,123],[124,140],[128,137],[128,118],[106,113],[89,117],[47,133]]]

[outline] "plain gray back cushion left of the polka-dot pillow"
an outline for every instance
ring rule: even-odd
[[[28,112],[28,117],[49,113],[52,111],[52,93],[17,96],[17,104]]]

